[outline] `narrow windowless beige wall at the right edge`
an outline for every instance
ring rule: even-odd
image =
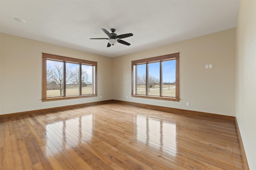
[[[256,170],[256,1],[241,0],[236,31],[236,118],[250,170]]]

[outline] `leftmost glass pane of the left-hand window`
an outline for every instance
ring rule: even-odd
[[[63,62],[46,61],[47,98],[63,96]]]

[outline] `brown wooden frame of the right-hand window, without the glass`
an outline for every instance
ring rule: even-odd
[[[136,65],[139,64],[146,64],[146,79],[148,79],[148,64],[149,63],[156,63],[160,62],[160,84],[162,84],[162,61],[170,61],[175,60],[176,61],[176,91],[175,91],[175,98],[174,97],[164,97],[164,96],[149,96],[149,95],[142,95],[142,94],[135,94],[136,93]],[[148,98],[148,99],[158,99],[158,100],[170,100],[170,101],[180,101],[179,98],[179,80],[180,80],[180,74],[179,74],[179,65],[180,65],[180,53],[173,53],[168,55],[162,55],[157,57],[151,57],[148,59],[140,59],[136,61],[132,61],[132,97],[136,98]],[[146,87],[148,87],[146,81]],[[148,88],[146,88],[147,90]],[[148,94],[146,92],[146,94]],[[162,85],[160,86],[160,94],[162,94]]]

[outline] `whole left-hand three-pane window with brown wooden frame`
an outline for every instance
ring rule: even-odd
[[[97,62],[43,53],[43,102],[97,96]]]

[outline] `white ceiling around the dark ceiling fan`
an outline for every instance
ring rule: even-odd
[[[0,0],[0,31],[117,57],[236,27],[238,0]],[[14,18],[21,18],[20,23]],[[133,33],[106,47],[101,30]]]

